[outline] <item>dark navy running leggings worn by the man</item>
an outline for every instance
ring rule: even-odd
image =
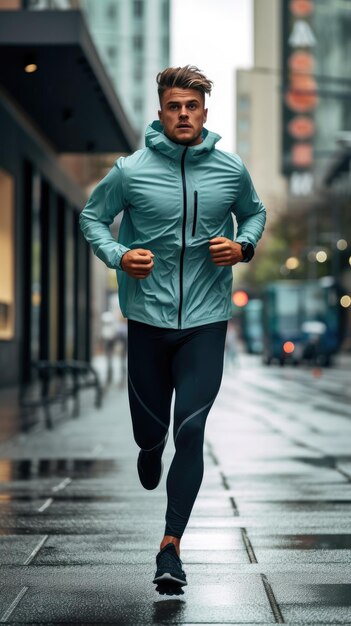
[[[166,535],[182,536],[201,485],[205,423],[221,384],[226,329],[227,322],[185,330],[128,322],[129,403],[143,450],[162,454],[175,390]]]

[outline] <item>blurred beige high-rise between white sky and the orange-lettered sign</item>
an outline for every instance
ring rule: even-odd
[[[238,70],[236,150],[275,216],[286,208],[281,172],[280,0],[254,3],[254,66]]]

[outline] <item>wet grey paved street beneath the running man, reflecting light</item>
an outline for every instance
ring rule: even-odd
[[[139,485],[125,390],[100,411],[89,393],[79,418],[0,443],[0,623],[351,624],[348,364],[227,367],[180,596],[151,582],[165,476]]]

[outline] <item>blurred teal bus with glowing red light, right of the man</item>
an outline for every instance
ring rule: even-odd
[[[263,362],[330,365],[342,340],[341,306],[331,277],[269,284],[263,300]]]

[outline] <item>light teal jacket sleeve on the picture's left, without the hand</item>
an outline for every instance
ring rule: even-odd
[[[121,158],[95,187],[79,216],[80,227],[94,254],[113,269],[120,268],[121,258],[129,248],[114,239],[109,227],[127,206]]]

